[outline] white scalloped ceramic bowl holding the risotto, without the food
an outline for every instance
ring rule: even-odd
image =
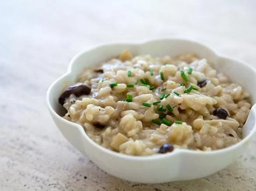
[[[197,42],[182,39],[161,39],[141,44],[107,44],[82,51],[70,62],[65,75],[57,79],[47,92],[47,106],[57,127],[66,139],[81,153],[87,156],[113,176],[140,183],[162,183],[189,180],[220,171],[238,159],[252,141],[256,133],[256,106],[254,105],[243,128],[243,140],[221,150],[200,152],[175,149],[172,153],[153,156],[129,156],[105,149],[91,140],[82,126],[67,121],[61,116],[63,108],[58,97],[65,88],[74,84],[84,68],[98,65],[116,57],[128,49],[133,55],[176,56],[195,53],[207,58],[219,72],[227,75],[251,94],[251,102],[256,103],[256,70],[250,65],[231,58],[217,55],[210,48]]]

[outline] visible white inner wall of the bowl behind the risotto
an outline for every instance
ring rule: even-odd
[[[49,102],[53,110],[63,116],[65,110],[58,103],[58,97],[65,88],[74,84],[78,76],[85,68],[100,65],[104,61],[115,58],[124,49],[129,50],[133,56],[150,54],[152,56],[177,56],[194,53],[200,58],[206,58],[218,72],[228,76],[231,82],[238,83],[250,93],[251,102],[256,102],[256,72],[255,69],[242,62],[230,58],[217,56],[214,51],[202,44],[193,41],[169,39],[150,41],[144,44],[110,44],[83,51],[78,54],[70,63],[68,73],[57,80],[50,88]],[[248,135],[254,126],[246,126],[245,136]],[[249,129],[248,129],[249,128]]]

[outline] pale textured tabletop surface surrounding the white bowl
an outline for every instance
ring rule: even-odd
[[[255,10],[256,0],[0,1],[0,190],[255,191],[256,141],[209,177],[136,184],[74,150],[45,103],[78,51],[111,41],[184,37],[256,66]]]

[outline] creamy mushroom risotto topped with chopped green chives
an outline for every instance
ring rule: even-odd
[[[249,94],[205,58],[171,58],[123,51],[87,68],[60,95],[65,119],[102,147],[129,155],[210,151],[242,138]]]

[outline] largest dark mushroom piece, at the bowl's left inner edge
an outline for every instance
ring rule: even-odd
[[[65,100],[71,95],[79,97],[81,95],[89,95],[91,93],[91,87],[87,84],[72,85],[63,92],[59,97],[59,103],[63,106]]]

